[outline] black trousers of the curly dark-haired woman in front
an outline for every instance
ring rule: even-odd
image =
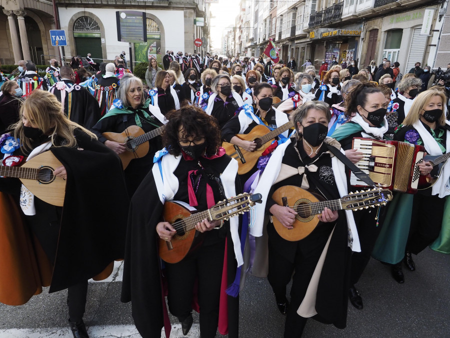
[[[165,265],[169,311],[180,321],[192,312],[194,285],[198,282],[202,338],[215,337],[217,331],[224,250],[225,240],[222,240],[201,246],[192,256],[178,263]]]

